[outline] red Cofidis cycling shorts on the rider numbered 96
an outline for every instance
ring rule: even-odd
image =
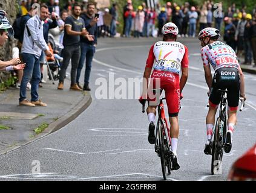
[[[165,98],[169,116],[178,116],[180,110],[180,78],[179,74],[154,70],[149,80],[149,106],[157,106],[156,95],[152,89],[165,90]]]

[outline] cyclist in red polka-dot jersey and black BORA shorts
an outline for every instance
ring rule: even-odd
[[[224,150],[229,153],[232,148],[232,133],[237,122],[237,109],[239,94],[245,97],[245,78],[237,61],[235,51],[223,42],[218,41],[220,31],[215,28],[205,28],[199,33],[201,41],[201,55],[205,80],[209,87],[209,111],[206,116],[207,141],[205,154],[211,154],[209,142],[212,137],[212,130],[215,122],[215,114],[220,103],[220,92],[218,89],[228,89],[228,131]],[[214,69],[212,78],[211,68]]]

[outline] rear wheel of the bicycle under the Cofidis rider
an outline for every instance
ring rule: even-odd
[[[165,152],[164,152],[164,144],[163,144],[163,131],[162,131],[162,121],[157,121],[157,142],[159,144],[159,155],[161,160],[161,168],[163,179],[166,180],[166,171],[165,171]]]

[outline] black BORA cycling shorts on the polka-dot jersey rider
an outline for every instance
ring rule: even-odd
[[[228,106],[230,110],[237,110],[239,104],[240,77],[236,68],[220,68],[215,71],[209,101],[212,105],[220,104],[218,89],[228,89]]]

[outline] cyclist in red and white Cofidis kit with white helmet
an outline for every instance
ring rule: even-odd
[[[142,97],[140,103],[143,103],[143,98],[149,101],[148,113],[149,119],[149,134],[148,141],[154,144],[154,121],[156,118],[156,104],[150,103],[155,98],[151,98],[149,93],[151,89],[165,90],[166,103],[168,106],[169,121],[171,124],[171,148],[172,148],[172,169],[179,169],[179,162],[177,160],[177,144],[179,137],[179,122],[178,114],[180,110],[180,95],[188,79],[188,48],[180,42],[176,42],[179,30],[175,24],[169,22],[162,28],[163,41],[154,43],[151,46],[146,60],[146,67],[143,75]],[[156,63],[154,64],[154,62]],[[151,73],[153,69],[153,72]],[[179,79],[180,70],[182,77]],[[150,83],[149,83],[149,77]],[[159,83],[160,87],[156,84]]]

